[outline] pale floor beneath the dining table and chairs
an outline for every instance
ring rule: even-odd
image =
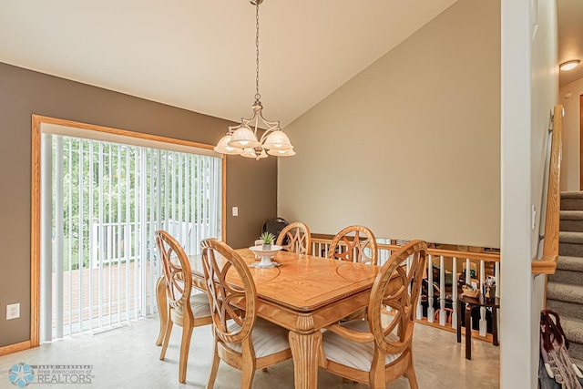
[[[45,343],[35,349],[0,357],[0,388],[16,388],[8,380],[15,363],[30,365],[92,365],[91,384],[29,384],[31,389],[101,389],[101,388],[204,388],[210,370],[212,337],[210,326],[194,330],[190,343],[187,383],[178,382],[179,336],[175,327],[166,360],[159,360],[157,317],[133,321],[130,325],[97,335],[80,334],[65,340]],[[455,333],[430,326],[415,325],[414,361],[421,388],[497,388],[499,387],[499,348],[491,343],[474,340],[471,361],[464,357],[464,343],[455,342]],[[239,387],[240,373],[220,363],[216,389]],[[319,388],[368,387],[363,384],[343,384],[343,380],[320,370]],[[404,378],[387,388],[408,388]],[[256,389],[292,389],[293,364],[287,361],[272,366],[268,372],[257,371],[253,382]]]

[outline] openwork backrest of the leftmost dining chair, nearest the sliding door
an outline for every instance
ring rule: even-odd
[[[189,303],[192,292],[189,258],[179,242],[167,231],[157,230],[155,237],[166,278],[168,302],[172,308],[189,312],[188,314],[192,316]]]

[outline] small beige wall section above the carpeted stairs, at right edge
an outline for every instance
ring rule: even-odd
[[[561,190],[580,189],[580,96],[583,95],[583,78],[560,88],[558,96],[565,107],[563,119],[563,160],[561,164]]]

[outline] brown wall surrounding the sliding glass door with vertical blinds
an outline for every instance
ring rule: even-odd
[[[192,91],[196,93],[196,91]],[[244,109],[244,105],[241,109]],[[244,113],[245,111],[241,111]],[[231,123],[0,63],[0,347],[30,339],[31,116],[214,144]],[[227,159],[227,242],[251,245],[275,216],[277,161]],[[231,207],[239,216],[231,216]],[[20,302],[20,319],[5,305]]]

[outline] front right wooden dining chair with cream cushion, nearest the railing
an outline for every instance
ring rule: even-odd
[[[426,251],[424,241],[411,241],[395,251],[374,280],[368,319],[326,328],[328,331],[322,334],[322,369],[374,389],[384,388],[401,375],[407,377],[412,388],[418,387],[413,327]]]

